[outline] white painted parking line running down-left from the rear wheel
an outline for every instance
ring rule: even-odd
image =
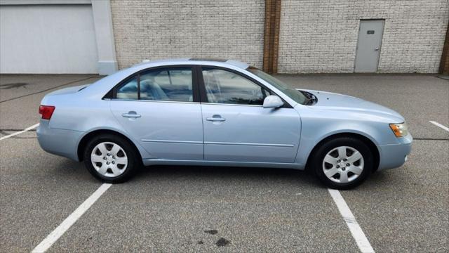
[[[83,204],[79,205],[78,208],[72,214],[70,214],[60,225],[55,228],[53,232],[51,232],[39,245],[37,245],[33,250],[32,253],[41,253],[46,252],[47,249],[53,245],[62,235],[64,235],[65,231],[67,231],[78,219],[81,217],[81,215],[86,212],[89,207],[97,201],[103,193],[106,192],[109,187],[111,187],[112,184],[110,183],[103,183],[97,190],[95,190],[95,193],[92,193],[90,197],[87,198],[83,202]]]

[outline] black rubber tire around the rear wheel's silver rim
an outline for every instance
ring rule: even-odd
[[[123,166],[124,169],[118,176],[105,176],[103,174],[100,174],[99,171],[97,171],[97,169],[95,169],[95,167],[93,166],[91,161],[91,154],[93,149],[100,143],[117,144],[119,145],[120,148],[122,148],[123,152],[125,153],[128,159],[127,164],[126,167],[121,165]],[[123,155],[123,153],[121,154]],[[83,157],[86,169],[93,176],[95,176],[96,179],[105,183],[123,183],[125,181],[128,181],[135,175],[135,172],[138,171],[139,167],[141,166],[141,161],[138,158],[139,156],[136,153],[133,144],[130,143],[125,138],[122,138],[121,136],[116,136],[114,134],[100,134],[98,136],[93,137],[91,140],[88,141],[86,148],[84,149]],[[116,166],[119,167],[119,164],[116,164]],[[110,169],[107,170],[112,171]],[[109,172],[107,173],[109,174]]]

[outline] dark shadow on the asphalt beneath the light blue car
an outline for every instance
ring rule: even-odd
[[[396,169],[397,170],[397,169]],[[55,173],[56,172],[56,173]],[[363,190],[377,188],[380,185],[391,185],[401,181],[401,173],[396,171],[377,171],[370,175],[366,182],[355,189]],[[53,176],[63,176],[65,180],[91,181],[97,180],[88,173],[83,162],[75,162],[68,159],[62,159]],[[284,183],[297,184],[307,188],[326,188],[309,171],[297,169],[276,169],[276,168],[257,168],[257,167],[208,167],[208,166],[171,166],[154,165],[142,167],[138,173],[126,183],[143,183],[153,180],[189,180],[195,181],[246,181],[249,184],[255,183]],[[391,187],[391,186],[390,186]]]

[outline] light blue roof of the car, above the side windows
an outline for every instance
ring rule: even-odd
[[[183,65],[183,64],[194,64],[194,65],[230,65],[234,67],[239,67],[246,70],[250,65],[248,63],[243,63],[239,60],[227,60],[220,58],[173,58],[173,59],[161,59],[161,60],[142,60],[142,63],[138,63],[134,66],[142,65]]]

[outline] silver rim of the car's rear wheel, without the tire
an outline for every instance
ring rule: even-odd
[[[128,157],[120,145],[112,142],[98,143],[91,153],[93,167],[102,176],[116,177],[128,167]]]

